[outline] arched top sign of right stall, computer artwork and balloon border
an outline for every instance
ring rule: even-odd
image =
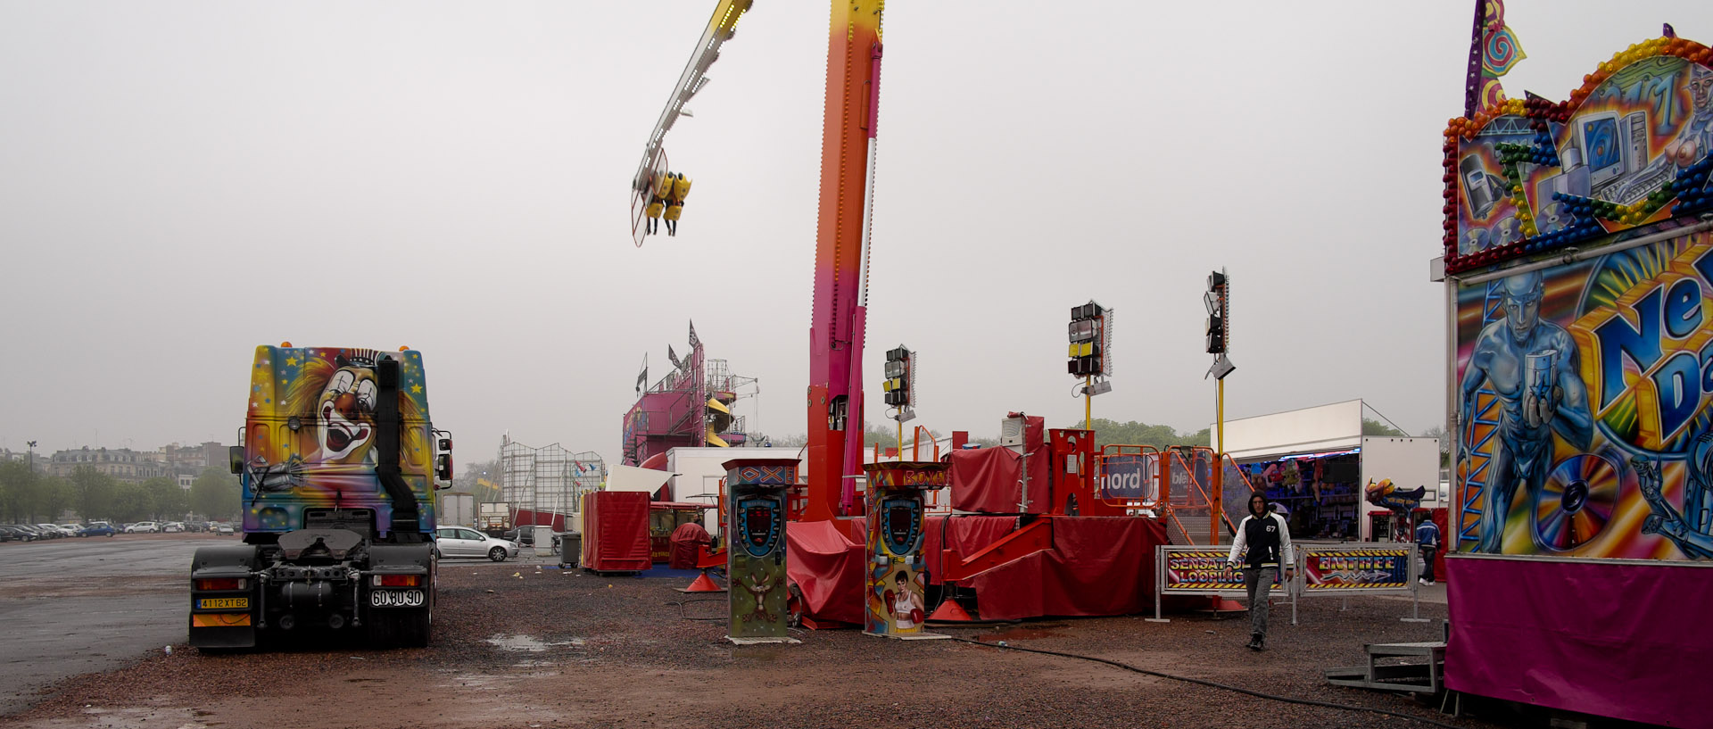
[[[1639,43],[1569,101],[1502,101],[1446,128],[1446,267],[1490,265],[1713,210],[1706,46]]]

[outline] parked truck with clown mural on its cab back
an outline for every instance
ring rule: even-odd
[[[427,645],[452,440],[428,419],[421,354],[260,346],[240,442],[243,541],[197,549],[190,645],[301,630]]]

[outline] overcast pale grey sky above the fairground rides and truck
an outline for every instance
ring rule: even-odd
[[[461,460],[618,457],[695,320],[805,426],[827,3],[757,0],[666,139],[677,238],[627,183],[713,0],[0,2],[0,447],[231,443],[257,344],[421,349]],[[1095,414],[1213,419],[1201,289],[1233,281],[1227,414],[1362,397],[1442,419],[1441,130],[1470,2],[894,2],[870,392],[1083,416],[1065,320],[1119,310]],[[1509,77],[1562,99],[1704,2],[1511,0]],[[879,418],[870,407],[870,421]]]

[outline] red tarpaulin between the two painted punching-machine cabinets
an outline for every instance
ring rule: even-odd
[[[845,539],[833,522],[791,522],[785,546],[785,573],[803,590],[803,613],[862,625],[867,548]]]

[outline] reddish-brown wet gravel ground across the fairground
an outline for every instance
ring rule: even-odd
[[[1427,726],[951,640],[839,630],[798,633],[800,645],[733,647],[723,638],[725,596],[675,592],[683,582],[452,563],[442,572],[428,649],[365,650],[308,635],[236,655],[175,645],[170,655],[158,650],[118,671],[63,681],[0,726]],[[1451,719],[1400,695],[1328,686],[1322,667],[1362,664],[1364,643],[1432,640],[1444,618],[1444,606],[1422,606],[1435,623],[1401,623],[1408,602],[1352,599],[1350,611],[1340,602],[1304,601],[1298,626],[1288,625],[1288,604],[1276,606],[1269,650],[1261,654],[1242,645],[1249,638],[1242,614],[942,631],[1459,727],[1495,726]]]

